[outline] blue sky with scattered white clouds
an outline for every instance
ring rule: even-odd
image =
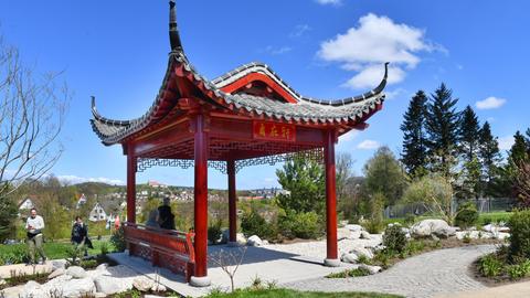
[[[125,181],[120,147],[104,147],[91,129],[89,96],[110,118],[147,110],[168,61],[167,2],[0,1],[4,42],[40,72],[64,71],[74,92],[56,175]],[[491,123],[502,148],[529,127],[529,10],[528,1],[194,0],[178,1],[178,22],[190,61],[209,78],[261,61],[304,95],[338,98],[375,86],[382,63],[392,62],[383,110],[337,147],[361,173],[378,146],[399,152],[411,95],[442,82],[462,109],[471,105]],[[138,181],[192,185],[192,173],[157,168]],[[225,180],[210,170],[211,188],[225,188]],[[240,189],[274,185],[275,167],[237,175]]]

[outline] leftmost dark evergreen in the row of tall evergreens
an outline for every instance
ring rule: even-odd
[[[409,104],[401,125],[403,131],[403,152],[401,161],[411,175],[422,174],[426,168],[427,149],[425,132],[425,116],[427,113],[427,96],[423,91],[416,92]]]

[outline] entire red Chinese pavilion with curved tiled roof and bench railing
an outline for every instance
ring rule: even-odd
[[[92,127],[105,146],[120,143],[127,156],[129,254],[186,274],[208,286],[208,168],[227,174],[230,242],[236,241],[235,174],[252,164],[274,164],[304,156],[326,172],[327,266],[340,264],[337,248],[335,145],[382,108],[382,82],[359,96],[326,100],[293,89],[266,64],[250,63],[210,81],[191,65],[170,1],[171,52],[158,96],[141,117],[113,120],[98,114]],[[152,166],[194,167],[194,234],[136,224],[136,172]]]

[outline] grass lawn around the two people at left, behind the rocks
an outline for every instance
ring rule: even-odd
[[[113,244],[109,241],[92,241],[94,248],[88,249],[89,255],[98,255],[102,253],[103,243],[106,243],[108,252],[115,251]],[[71,243],[65,242],[46,242],[44,243],[44,253],[49,259],[56,258],[66,258],[68,255],[66,251],[72,247]],[[25,244],[13,244],[13,245],[0,245],[0,258],[3,256],[10,255],[12,253],[26,252],[28,245]]]

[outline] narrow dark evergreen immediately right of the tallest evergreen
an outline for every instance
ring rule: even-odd
[[[471,162],[478,156],[480,141],[480,127],[478,118],[470,106],[467,106],[462,113],[459,129],[460,150],[465,162]]]

